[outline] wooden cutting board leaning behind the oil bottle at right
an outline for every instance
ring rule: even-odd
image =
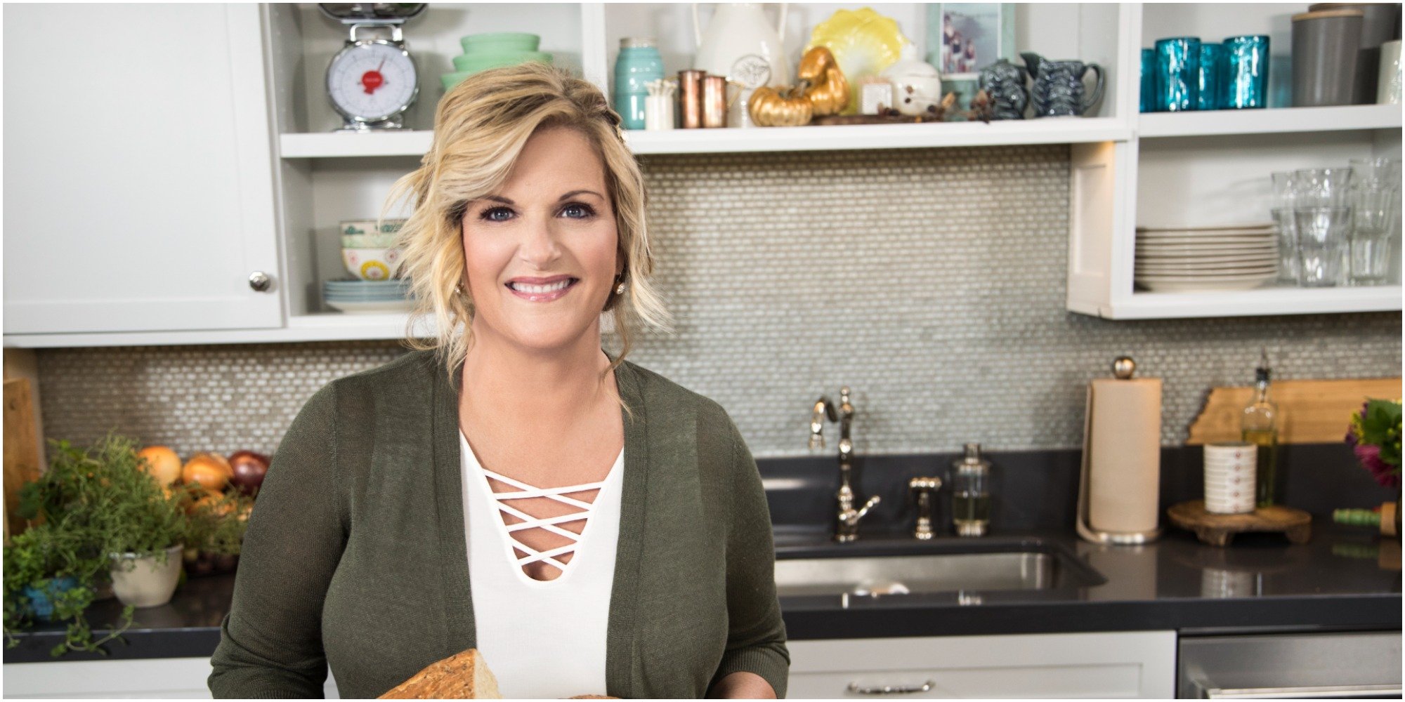
[[[1399,378],[1347,380],[1274,380],[1269,399],[1277,403],[1283,421],[1279,444],[1336,444],[1346,439],[1352,413],[1367,397],[1395,400]],[[1239,441],[1239,417],[1253,400],[1253,388],[1213,388],[1205,409],[1190,424],[1186,444]]]

